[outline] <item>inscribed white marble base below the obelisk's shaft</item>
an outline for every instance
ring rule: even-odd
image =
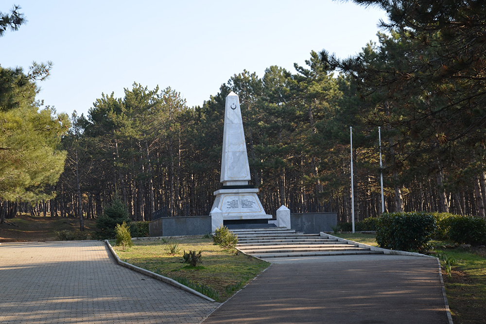
[[[272,215],[265,214],[257,193],[255,188],[216,190],[211,210],[218,208],[224,221],[271,219]]]

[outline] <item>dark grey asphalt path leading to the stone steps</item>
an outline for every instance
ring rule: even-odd
[[[447,324],[435,258],[272,258],[204,324]]]

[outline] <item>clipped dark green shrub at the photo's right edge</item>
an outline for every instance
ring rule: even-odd
[[[447,220],[449,228],[447,237],[462,244],[486,244],[486,220],[472,216],[455,215]]]

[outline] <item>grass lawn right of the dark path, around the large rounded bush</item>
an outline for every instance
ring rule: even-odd
[[[337,234],[343,239],[377,245],[374,234]],[[486,323],[486,248],[464,249],[451,242],[432,241],[431,255],[442,264],[442,277],[454,324]],[[445,261],[452,260],[450,276]]]

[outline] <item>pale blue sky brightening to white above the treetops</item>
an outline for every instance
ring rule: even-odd
[[[13,1],[13,2],[11,2]],[[11,0],[28,22],[0,38],[0,65],[53,62],[37,100],[87,116],[102,93],[134,82],[180,92],[192,107],[246,69],[295,72],[311,51],[340,58],[377,42],[386,13],[331,0]],[[11,2],[11,3],[8,3]]]

